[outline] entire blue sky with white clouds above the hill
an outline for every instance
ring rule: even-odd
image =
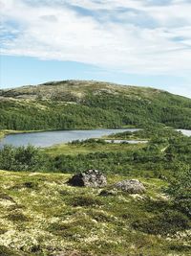
[[[191,0],[0,0],[0,88],[96,80],[191,98]]]

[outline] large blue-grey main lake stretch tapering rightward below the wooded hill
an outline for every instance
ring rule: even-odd
[[[0,141],[0,148],[9,144],[15,147],[32,145],[35,147],[51,147],[54,144],[67,143],[74,140],[100,138],[103,135],[122,131],[135,131],[137,128],[90,129],[90,130],[55,130],[32,133],[10,134]]]

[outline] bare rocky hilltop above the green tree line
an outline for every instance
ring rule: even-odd
[[[83,98],[87,94],[114,94],[128,97],[152,98],[159,93],[167,93],[151,87],[121,85],[106,81],[48,81],[37,85],[25,85],[17,88],[0,90],[0,96],[16,99],[54,99],[66,101],[66,95]]]

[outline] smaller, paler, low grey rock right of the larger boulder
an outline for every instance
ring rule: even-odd
[[[142,194],[146,191],[144,185],[138,179],[119,181],[115,184],[115,187],[129,194]]]

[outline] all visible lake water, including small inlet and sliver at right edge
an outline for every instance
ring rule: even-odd
[[[49,148],[54,145],[67,144],[75,140],[83,141],[87,139],[102,139],[113,141],[117,138],[112,136],[115,133],[131,131],[139,128],[95,128],[95,129],[55,129],[55,130],[2,130],[0,131],[0,148],[5,145],[14,147],[32,145],[37,148]],[[191,130],[177,129],[185,136],[191,136]],[[16,136],[15,136],[16,135]],[[122,138],[118,138],[122,140]],[[127,138],[121,143],[146,143],[149,139]],[[145,142],[146,141],[146,142]],[[116,142],[118,143],[118,142]]]

